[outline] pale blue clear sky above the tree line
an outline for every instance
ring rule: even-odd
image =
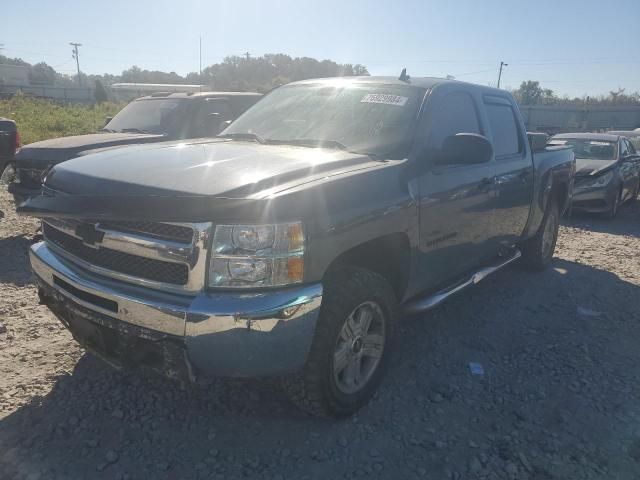
[[[560,95],[640,91],[640,0],[20,0],[2,2],[0,53],[75,73],[175,71],[228,55],[361,63],[372,75],[538,80]]]

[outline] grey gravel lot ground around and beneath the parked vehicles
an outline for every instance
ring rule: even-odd
[[[180,389],[85,354],[38,305],[36,222],[4,193],[0,210],[2,479],[640,478],[636,205],[563,226],[544,273],[406,319],[377,397],[341,422],[273,380]]]

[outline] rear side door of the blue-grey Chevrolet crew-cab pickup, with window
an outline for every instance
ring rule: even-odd
[[[522,235],[533,201],[533,160],[520,117],[504,97],[484,96],[495,157],[496,198],[491,228],[501,246]]]

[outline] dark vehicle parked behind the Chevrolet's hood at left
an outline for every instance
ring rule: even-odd
[[[262,97],[259,93],[156,93],[129,103],[100,131],[29,144],[16,156],[9,186],[16,205],[40,194],[43,174],[53,165],[126,145],[214,137]]]

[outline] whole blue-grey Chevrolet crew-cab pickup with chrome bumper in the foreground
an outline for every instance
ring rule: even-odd
[[[87,349],[177,378],[280,376],[302,409],[344,416],[403,314],[549,265],[575,160],[545,140],[502,90],[307,80],[209,143],[58,165],[19,212],[43,218],[40,299]]]

